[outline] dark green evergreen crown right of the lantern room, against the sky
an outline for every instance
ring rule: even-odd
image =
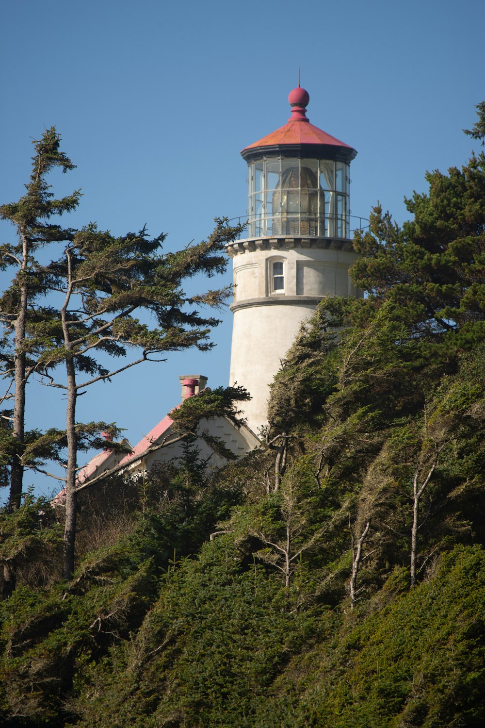
[[[475,138],[484,124],[484,105],[478,108]],[[361,257],[350,275],[392,306],[388,315],[405,322],[410,336],[433,347],[470,347],[485,338],[484,152],[461,170],[428,172],[426,181],[428,194],[406,199],[413,218],[402,227],[374,207],[370,231],[354,240]]]

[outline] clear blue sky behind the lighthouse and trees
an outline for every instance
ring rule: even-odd
[[[380,200],[402,222],[426,170],[465,162],[462,129],[485,98],[483,0],[4,0],[1,18],[0,202],[23,194],[31,141],[55,125],[77,169],[54,175],[54,191],[83,192],[65,223],[114,234],[146,223],[167,250],[244,215],[239,151],[286,122],[299,67],[310,122],[358,150],[350,205],[364,217]],[[13,234],[0,224],[1,242]],[[179,374],[228,384],[231,316],[209,354],[91,387],[79,420],[117,422],[135,445],[178,402]],[[28,389],[28,427],[63,427],[59,393]]]

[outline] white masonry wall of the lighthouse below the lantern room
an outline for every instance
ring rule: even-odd
[[[322,296],[358,296],[348,275],[356,259],[351,250],[326,247],[330,240],[269,239],[235,242],[234,302],[229,381],[249,390],[244,405],[249,427],[257,432],[267,421],[268,385],[281,368],[300,324],[308,320]],[[291,246],[291,247],[290,247]],[[341,242],[340,242],[341,246]],[[275,262],[283,265],[284,290],[272,290]]]

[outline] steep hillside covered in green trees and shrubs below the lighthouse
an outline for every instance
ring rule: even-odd
[[[356,235],[368,295],[302,327],[259,450],[209,474],[189,400],[183,459],[79,494],[68,579],[49,502],[5,507],[3,725],[484,724],[484,154],[427,180]]]

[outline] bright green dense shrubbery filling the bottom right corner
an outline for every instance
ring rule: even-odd
[[[294,725],[481,725],[484,559],[481,547],[457,548],[428,582],[342,628],[320,665],[313,656]]]

